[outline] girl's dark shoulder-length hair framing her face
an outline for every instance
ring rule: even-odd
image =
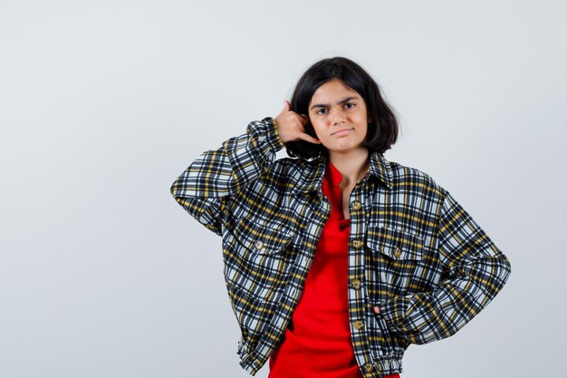
[[[351,90],[358,92],[369,112],[369,127],[364,146],[370,151],[384,153],[398,139],[399,124],[394,111],[384,101],[378,84],[359,64],[348,58],[337,56],[314,63],[299,79],[293,91],[291,110],[298,114],[309,114],[308,108],[313,93],[325,82],[339,79]],[[317,138],[311,122],[305,131]],[[287,153],[299,159],[312,159],[327,150],[322,144],[308,141],[288,141]]]

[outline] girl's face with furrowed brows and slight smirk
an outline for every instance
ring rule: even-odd
[[[366,103],[338,79],[325,82],[309,102],[309,120],[329,152],[351,152],[362,146],[368,129]]]

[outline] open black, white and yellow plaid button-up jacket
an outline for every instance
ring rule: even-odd
[[[271,122],[253,121],[204,152],[170,189],[223,238],[240,364],[252,375],[282,340],[331,212],[325,158],[275,160],[282,148]],[[344,285],[354,354],[365,377],[400,373],[408,344],[455,334],[505,285],[510,263],[446,189],[380,153],[370,155],[350,201]]]

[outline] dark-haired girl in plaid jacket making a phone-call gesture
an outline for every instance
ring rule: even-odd
[[[508,259],[447,189],[384,158],[398,131],[369,73],[324,59],[171,186],[223,237],[249,373],[399,377],[409,344],[455,334],[505,285]]]

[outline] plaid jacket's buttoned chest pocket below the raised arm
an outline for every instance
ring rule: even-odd
[[[293,229],[289,225],[240,219],[223,238],[228,289],[273,301],[277,294],[274,290],[283,286],[291,264],[288,246],[292,240]]]

